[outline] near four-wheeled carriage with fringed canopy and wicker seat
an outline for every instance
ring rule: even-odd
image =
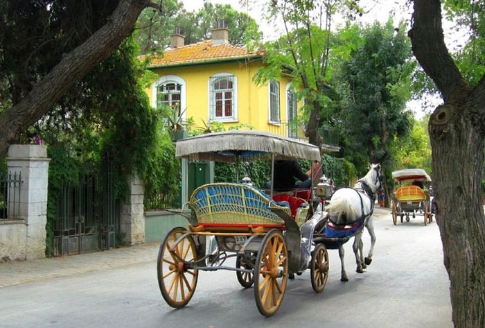
[[[236,181],[240,178],[239,162],[263,159],[271,160],[274,166],[275,159],[321,159],[316,146],[256,131],[183,139],[177,141],[176,156],[233,162]],[[188,304],[200,270],[235,271],[241,286],[254,286],[256,306],[263,316],[272,316],[279,309],[288,278],[308,268],[312,288],[317,293],[324,290],[328,279],[326,243],[342,245],[358,231],[326,236],[328,215],[323,202],[314,207],[294,196],[287,195],[285,201],[274,196],[273,190],[268,194],[239,182],[209,183],[193,191],[187,204],[191,215],[177,211],[187,218],[188,228],[170,230],[161,241],[157,259],[161,295],[171,307]],[[231,261],[233,266],[224,265]]]

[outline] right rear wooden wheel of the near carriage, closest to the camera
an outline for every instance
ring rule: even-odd
[[[261,241],[254,267],[254,298],[259,312],[278,311],[288,283],[288,251],[280,230],[270,230]]]

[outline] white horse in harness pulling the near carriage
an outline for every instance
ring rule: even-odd
[[[352,245],[355,254],[355,261],[357,262],[358,273],[363,273],[364,268],[371,264],[374,244],[376,243],[376,234],[373,227],[373,209],[376,200],[376,192],[382,188],[382,178],[380,173],[380,164],[371,164],[369,172],[364,178],[358,180],[353,188],[337,189],[330,198],[330,205],[325,207],[329,214],[328,225],[335,227],[355,227],[360,224],[360,230],[355,234],[355,239]],[[367,227],[367,231],[371,236],[371,248],[369,254],[364,259],[362,254],[362,230]],[[342,273],[340,280],[342,282],[349,281],[344,266],[344,243],[338,247],[340,263],[342,265]]]

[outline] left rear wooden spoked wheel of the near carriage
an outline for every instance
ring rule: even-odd
[[[175,227],[160,244],[157,258],[157,275],[161,295],[170,307],[184,307],[191,300],[199,271],[184,264],[197,260],[195,241],[189,234],[177,245],[175,241],[186,233],[183,227]],[[170,252],[173,250],[173,252]],[[177,256],[175,256],[177,254]]]

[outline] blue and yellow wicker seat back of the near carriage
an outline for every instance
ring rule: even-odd
[[[285,221],[270,208],[291,214],[289,205],[272,200],[263,191],[238,183],[204,184],[193,191],[188,205],[195,212],[193,231],[262,232],[285,229]]]

